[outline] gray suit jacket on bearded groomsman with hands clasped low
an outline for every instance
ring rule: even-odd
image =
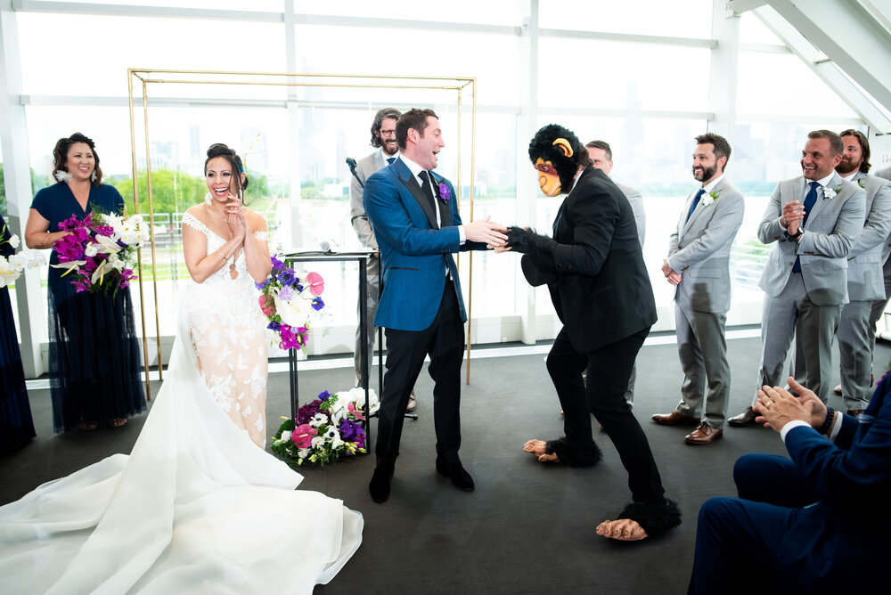
[[[730,252],[746,202],[726,178],[711,193],[702,195],[690,219],[687,213],[696,192],[687,197],[669,241],[668,265],[683,274],[674,289],[681,306],[725,314],[730,309]]]

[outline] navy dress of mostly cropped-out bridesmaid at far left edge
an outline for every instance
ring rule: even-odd
[[[4,230],[2,240],[9,240],[12,233],[6,229],[3,216],[0,216],[0,230]],[[14,252],[8,243],[0,244],[0,255],[8,258]],[[9,289],[4,287],[0,289],[0,453],[18,450],[34,436],[12,303]]]

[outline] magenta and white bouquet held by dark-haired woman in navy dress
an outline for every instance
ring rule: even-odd
[[[59,229],[70,233],[53,246],[59,255],[53,267],[65,269],[63,277],[73,274],[71,284],[78,292],[114,294],[136,278],[136,250],[149,240],[143,216],[124,219],[94,211],[83,219],[71,216]]]

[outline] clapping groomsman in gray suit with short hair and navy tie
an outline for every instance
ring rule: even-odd
[[[777,243],[759,283],[767,295],[756,390],[781,386],[789,345],[797,335],[805,346],[801,383],[824,403],[829,398],[832,338],[848,301],[847,256],[866,216],[866,192],[835,172],[843,149],[834,132],[807,134],[802,176],[777,184],[758,226],[759,240]],[[749,406],[728,421],[748,426],[755,418]]]

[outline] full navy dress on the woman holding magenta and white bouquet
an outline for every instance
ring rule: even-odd
[[[58,232],[72,215],[83,218],[94,209],[121,213],[124,199],[114,186],[91,186],[85,211],[67,183],[55,183],[37,192],[31,208],[50,222],[50,232]],[[53,251],[50,265],[57,262]],[[145,411],[130,289],[119,289],[114,296],[77,293],[61,273],[49,269],[53,429],[67,431]]]

